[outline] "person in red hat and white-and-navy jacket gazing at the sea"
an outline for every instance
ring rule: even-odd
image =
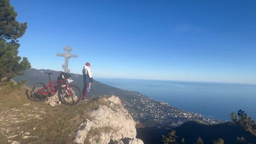
[[[83,68],[83,77],[84,77],[83,100],[88,100],[88,93],[90,91],[91,84],[94,84],[89,62],[86,62]]]

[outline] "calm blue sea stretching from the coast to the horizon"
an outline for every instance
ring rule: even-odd
[[[213,116],[210,118],[230,120],[231,112],[242,109],[256,120],[256,85],[254,84],[116,78],[96,78],[96,80],[124,90],[140,92],[182,110]]]

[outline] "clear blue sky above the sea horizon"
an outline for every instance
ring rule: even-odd
[[[62,70],[69,44],[94,77],[256,84],[255,0],[11,0],[19,55]]]

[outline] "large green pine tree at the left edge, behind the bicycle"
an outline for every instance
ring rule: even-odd
[[[19,23],[17,15],[9,0],[0,0],[0,82],[31,67],[27,58],[18,56],[18,38],[26,32],[27,23]]]

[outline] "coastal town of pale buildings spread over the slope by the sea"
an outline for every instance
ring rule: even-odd
[[[196,120],[203,124],[219,124],[225,122],[223,120],[206,118],[206,116],[194,112],[180,110],[179,108],[170,106],[166,102],[153,100],[139,92],[130,91],[130,94],[133,95],[133,99],[121,99],[122,104],[135,120],[144,124],[150,122],[151,124],[179,126],[189,120]]]

